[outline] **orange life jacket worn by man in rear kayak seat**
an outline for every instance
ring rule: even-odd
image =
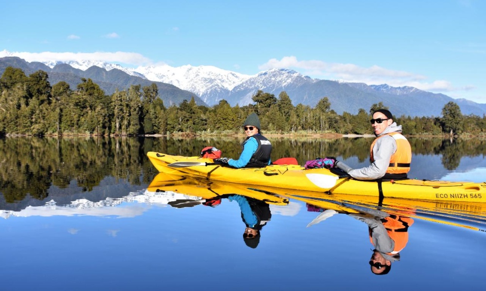
[[[385,135],[390,135],[397,142],[397,151],[390,158],[390,165],[386,169],[387,174],[406,174],[410,171],[410,162],[412,162],[412,148],[408,140],[399,132],[390,132],[377,137],[370,147],[369,159],[374,162],[373,147],[378,139]]]

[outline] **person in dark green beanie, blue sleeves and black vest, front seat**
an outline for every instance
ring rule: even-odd
[[[246,139],[243,141],[243,151],[238,160],[222,158],[215,161],[227,162],[235,168],[260,168],[271,163],[272,144],[260,134],[260,119],[256,113],[251,113],[243,123]]]

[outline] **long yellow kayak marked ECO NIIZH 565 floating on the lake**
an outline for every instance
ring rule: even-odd
[[[486,202],[486,183],[406,179],[362,181],[321,169],[300,165],[269,165],[263,168],[236,169],[201,157],[172,156],[148,152],[159,172],[191,175],[237,184],[261,185],[332,194],[354,194],[417,200]]]

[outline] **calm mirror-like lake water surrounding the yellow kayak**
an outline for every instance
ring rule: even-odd
[[[486,203],[278,196],[191,179],[168,182],[146,157],[148,151],[194,156],[216,146],[236,158],[242,140],[0,139],[2,290],[486,288]],[[335,156],[351,167],[368,164],[372,142],[271,140],[273,160],[295,157],[303,164]],[[485,140],[410,141],[410,178],[486,180]],[[211,193],[223,195],[215,207],[184,204]],[[251,247],[243,241],[238,197],[266,199],[271,214]],[[406,221],[408,238],[389,273],[375,275],[366,222],[385,217]]]

